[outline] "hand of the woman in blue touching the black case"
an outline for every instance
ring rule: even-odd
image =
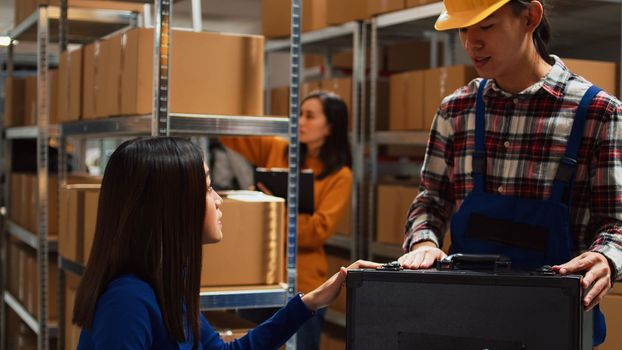
[[[323,307],[328,306],[332,303],[337,295],[339,295],[339,291],[341,290],[341,286],[346,281],[346,276],[348,274],[348,270],[351,269],[375,269],[377,267],[382,266],[382,264],[359,260],[346,269],[345,267],[341,267],[339,272],[334,274],[331,278],[329,278],[324,284],[315,288],[311,292],[302,296],[302,302],[307,306],[307,308],[311,311],[315,311],[317,309],[321,309]]]

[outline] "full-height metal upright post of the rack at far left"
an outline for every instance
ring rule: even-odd
[[[39,228],[39,247],[37,263],[39,266],[39,341],[38,350],[48,350],[48,129],[49,129],[49,79],[48,46],[49,23],[48,7],[39,6],[37,23],[37,223]]]

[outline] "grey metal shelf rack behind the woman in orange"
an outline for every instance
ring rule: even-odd
[[[315,31],[302,33],[300,41],[305,53],[322,54],[325,56],[327,64],[325,77],[332,76],[330,56],[334,53],[351,49],[353,52],[353,72],[352,72],[352,132],[350,132],[350,143],[352,145],[352,171],[354,176],[352,190],[352,212],[353,218],[350,232],[362,232],[363,230],[363,207],[361,203],[365,201],[365,190],[363,188],[363,134],[365,129],[364,118],[362,117],[363,106],[366,105],[365,98],[365,55],[368,37],[368,25],[364,21],[352,21],[337,26],[331,26]],[[271,39],[266,41],[266,54],[272,52],[285,51],[289,49],[289,39]],[[267,62],[268,60],[266,60]],[[266,86],[269,86],[267,81]],[[266,106],[269,108],[269,94],[266,96]],[[352,237],[355,237],[352,239]],[[333,235],[326,243],[350,251],[351,259],[357,259],[363,255],[364,242],[358,239],[357,235],[349,237],[339,237]]]

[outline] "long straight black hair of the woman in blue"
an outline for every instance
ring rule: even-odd
[[[198,147],[181,138],[138,138],[114,151],[76,294],[75,324],[89,329],[108,283],[133,274],[153,288],[172,339],[193,337],[196,348],[207,193],[203,164]]]

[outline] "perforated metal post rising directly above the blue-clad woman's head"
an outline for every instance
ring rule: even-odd
[[[156,25],[154,32],[155,60],[153,68],[153,121],[152,136],[170,134],[169,68],[171,58],[172,0],[154,0]]]

